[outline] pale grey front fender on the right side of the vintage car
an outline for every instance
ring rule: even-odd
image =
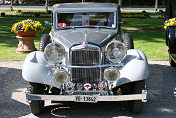
[[[123,63],[124,66],[119,68],[121,73],[120,78],[113,83],[114,86],[148,78],[148,62],[142,51],[136,49],[128,50]]]

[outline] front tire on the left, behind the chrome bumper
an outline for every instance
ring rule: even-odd
[[[29,83],[28,84],[28,90],[32,94],[44,94],[44,85],[37,84],[37,83]],[[44,101],[43,100],[31,100],[29,102],[29,107],[31,110],[31,113],[39,116],[42,113],[42,110],[44,108]]]

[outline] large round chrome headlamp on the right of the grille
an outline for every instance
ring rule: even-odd
[[[127,53],[125,45],[120,41],[112,41],[106,46],[106,56],[111,62],[120,62],[122,61]]]

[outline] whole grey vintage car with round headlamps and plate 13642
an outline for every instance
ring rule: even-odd
[[[145,54],[133,49],[133,39],[120,25],[120,8],[113,3],[56,4],[49,34],[39,51],[28,54],[22,75],[34,115],[45,100],[52,102],[128,101],[139,113],[146,102]]]

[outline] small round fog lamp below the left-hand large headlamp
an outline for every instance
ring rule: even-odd
[[[54,80],[58,84],[66,84],[70,80],[70,76],[67,71],[59,70],[54,73]]]

